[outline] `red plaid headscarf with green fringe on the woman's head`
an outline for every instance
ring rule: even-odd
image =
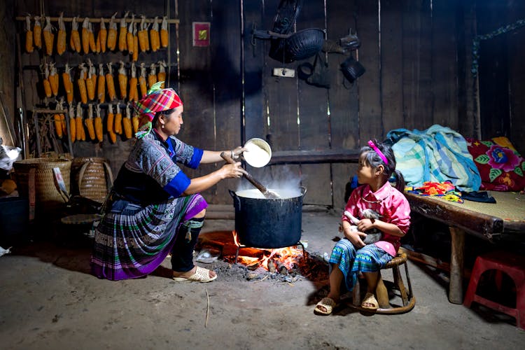
[[[148,94],[139,102],[133,104],[137,113],[141,116],[146,116],[148,123],[141,127],[141,130],[135,134],[139,139],[145,137],[151,132],[151,122],[155,118],[155,114],[169,109],[175,109],[182,106],[181,97],[172,88],[161,89],[160,86],[164,81],[159,81],[150,88]]]

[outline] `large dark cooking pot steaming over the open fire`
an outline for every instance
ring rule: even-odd
[[[253,248],[283,248],[301,239],[302,197],[306,188],[272,189],[281,198],[267,199],[259,190],[240,190],[230,195],[235,207],[235,231],[239,243]]]

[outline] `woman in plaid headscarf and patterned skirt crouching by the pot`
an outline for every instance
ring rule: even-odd
[[[193,264],[207,208],[200,192],[242,176],[244,169],[240,162],[225,164],[195,179],[181,171],[179,163],[195,169],[223,159],[221,151],[204,151],[174,137],[183,124],[183,104],[173,89],[160,89],[160,83],[135,105],[146,123],[104,203],[92,273],[113,281],[145,276],[171,253],[175,281],[213,281],[214,271]],[[237,158],[243,151],[237,147],[227,152]]]

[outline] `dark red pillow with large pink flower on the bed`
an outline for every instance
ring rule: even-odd
[[[525,188],[525,160],[509,139],[465,139],[482,178],[480,190],[519,191]]]

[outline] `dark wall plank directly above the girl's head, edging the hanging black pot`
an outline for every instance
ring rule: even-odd
[[[360,146],[369,139],[383,139],[381,123],[381,76],[379,57],[379,1],[360,1],[358,34],[361,47],[358,59],[366,72],[358,78]]]

